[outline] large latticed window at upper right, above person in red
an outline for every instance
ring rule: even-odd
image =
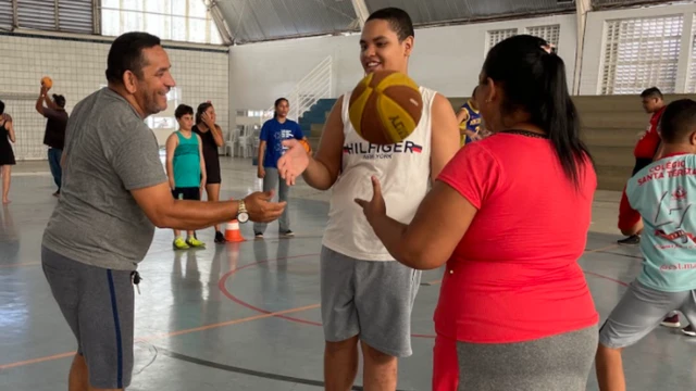
[[[601,93],[675,90],[683,15],[607,21]]]

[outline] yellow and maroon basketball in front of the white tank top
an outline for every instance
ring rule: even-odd
[[[365,141],[391,144],[413,133],[423,113],[423,98],[409,76],[395,71],[375,72],[352,90],[348,113],[352,127]]]

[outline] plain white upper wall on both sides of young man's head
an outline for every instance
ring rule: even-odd
[[[447,97],[468,97],[477,81],[486,54],[487,31],[560,25],[559,55],[572,86],[577,41],[574,14],[480,23],[415,30],[409,74]],[[264,110],[286,94],[327,55],[334,63],[334,97],[349,91],[363,76],[358,35],[316,37],[235,46],[229,49],[231,106]],[[290,102],[291,104],[293,102]]]

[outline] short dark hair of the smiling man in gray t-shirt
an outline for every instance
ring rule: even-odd
[[[142,68],[147,65],[142,50],[160,46],[160,38],[147,33],[126,33],[116,38],[109,49],[107,60],[107,80],[123,84],[123,74],[133,72],[142,77]]]

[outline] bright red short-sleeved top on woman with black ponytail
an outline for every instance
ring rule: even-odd
[[[467,144],[449,162],[438,180],[478,212],[447,262],[439,335],[506,343],[598,323],[577,265],[597,186],[584,167],[576,191],[548,140],[512,134]]]

